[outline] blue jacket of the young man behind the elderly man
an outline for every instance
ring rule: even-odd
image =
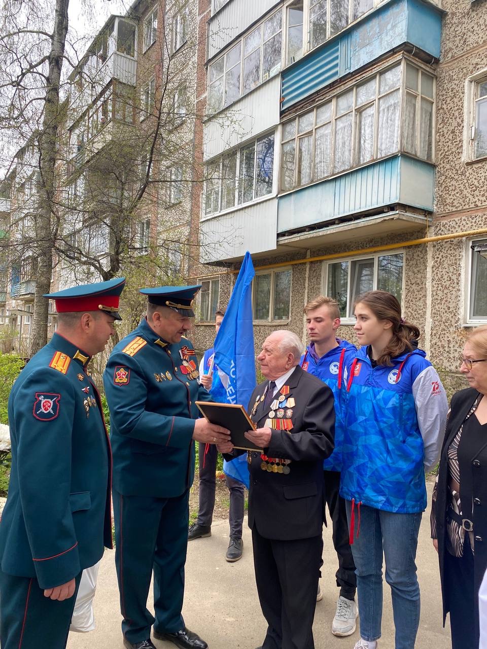
[[[331,388],[335,400],[335,448],[329,458],[323,461],[325,471],[342,471],[343,422],[340,415],[339,397],[343,383],[343,372],[347,362],[355,358],[356,347],[346,340],[336,339],[338,347],[330,350],[316,360],[314,343],[306,347],[301,356],[301,367],[308,373],[314,374]]]

